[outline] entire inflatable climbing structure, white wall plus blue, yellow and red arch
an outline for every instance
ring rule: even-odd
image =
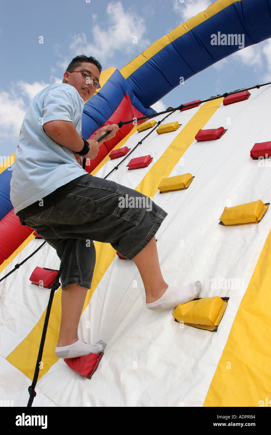
[[[85,104],[83,137],[92,137],[104,124],[150,116],[154,111],[149,106],[177,86],[180,75],[186,80],[238,50],[238,46],[218,50],[210,45],[210,34],[245,32],[249,46],[271,37],[270,15],[269,0],[219,0],[122,70],[106,70],[102,88]],[[171,71],[166,78],[158,74],[169,63],[178,68],[181,59],[182,74],[177,78]],[[149,92],[143,94],[142,74],[150,81],[145,87]],[[113,92],[116,83],[118,93]],[[224,301],[227,305],[223,302],[225,311],[216,319],[216,330],[188,325],[191,316],[178,320],[173,310],[148,310],[133,261],[119,258],[111,245],[95,242],[96,268],[79,338],[106,341],[104,355],[91,380],[56,358],[60,287],[53,299],[34,406],[270,404],[271,165],[266,157],[271,86],[249,92],[228,105],[221,97],[177,110],[160,125],[172,123],[172,131],[157,134],[154,129],[145,140],[149,130],[138,131],[132,124],[122,127],[115,142],[104,144],[88,169],[147,195],[168,213],[156,234],[165,281],[186,285],[199,280],[201,298],[217,296]],[[163,117],[153,119],[158,123]],[[212,132],[204,137],[205,130]],[[122,147],[129,153],[136,148],[114,170],[123,157],[111,160],[108,154]],[[259,149],[261,155],[253,154]],[[144,157],[145,167],[129,170],[129,161],[139,157]],[[20,225],[9,196],[12,167],[6,164],[0,171],[0,367],[5,374],[0,388],[1,397],[13,398],[14,406],[26,406],[50,293],[29,278],[37,266],[58,269],[59,258],[31,228]],[[169,191],[172,184],[169,188],[167,179],[180,176],[184,185]],[[240,207],[232,217],[231,207],[250,203],[245,217]],[[196,322],[201,325],[202,318]]]

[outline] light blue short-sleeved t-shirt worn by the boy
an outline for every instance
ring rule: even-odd
[[[43,130],[46,122],[70,121],[82,137],[83,107],[83,98],[76,88],[66,83],[46,86],[31,100],[23,118],[10,181],[10,201],[15,214],[58,187],[88,174],[72,150],[56,144]]]

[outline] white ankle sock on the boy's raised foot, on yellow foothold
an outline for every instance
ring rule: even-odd
[[[179,304],[185,304],[197,298],[202,290],[200,281],[193,282],[185,287],[169,287],[160,299],[146,303],[150,310],[161,310],[164,308],[175,308]]]

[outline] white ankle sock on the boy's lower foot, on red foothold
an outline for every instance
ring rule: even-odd
[[[106,343],[102,340],[96,341],[94,346],[78,340],[69,346],[56,347],[56,356],[58,358],[77,358],[90,353],[100,354],[105,347]]]

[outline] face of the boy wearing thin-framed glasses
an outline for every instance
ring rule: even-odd
[[[90,97],[95,94],[96,87],[93,85],[93,80],[86,79],[83,76],[82,72],[76,72],[82,70],[89,74],[89,77],[93,78],[93,80],[99,82],[100,72],[96,65],[90,62],[82,62],[82,64],[77,67],[72,73],[66,71],[63,77],[66,80],[67,84],[75,87],[80,97],[82,97],[84,102],[86,102],[87,100],[89,100]]]

